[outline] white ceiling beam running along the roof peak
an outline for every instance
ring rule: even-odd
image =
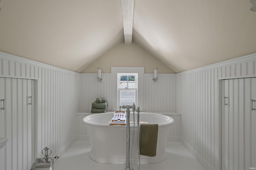
[[[124,43],[131,44],[134,0],[121,0],[121,5],[124,25]]]

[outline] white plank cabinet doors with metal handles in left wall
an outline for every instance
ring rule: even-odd
[[[33,97],[34,80],[0,78],[0,99],[6,100],[6,109],[0,110],[0,137],[9,138],[0,150],[0,170],[28,170],[32,165]]]

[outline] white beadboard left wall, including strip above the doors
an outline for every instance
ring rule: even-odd
[[[74,113],[79,111],[80,100],[78,73],[0,52],[0,76],[35,80],[35,157],[42,157],[44,147],[50,147],[54,155],[74,138]]]

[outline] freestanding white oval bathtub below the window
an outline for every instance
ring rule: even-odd
[[[90,158],[100,163],[126,163],[126,126],[109,125],[113,113],[97,113],[83,118],[90,139]],[[156,113],[140,113],[140,124],[158,124],[158,139],[156,156],[140,155],[141,164],[154,164],[166,158],[166,141],[170,126],[174,123],[172,117]],[[130,146],[133,137],[133,113],[130,113]],[[137,113],[135,113],[135,133],[132,150],[132,163],[138,163],[138,133]],[[132,147],[130,147],[132,149]]]

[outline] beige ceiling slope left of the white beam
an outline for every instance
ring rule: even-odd
[[[120,0],[2,0],[0,51],[80,72],[124,40]]]

